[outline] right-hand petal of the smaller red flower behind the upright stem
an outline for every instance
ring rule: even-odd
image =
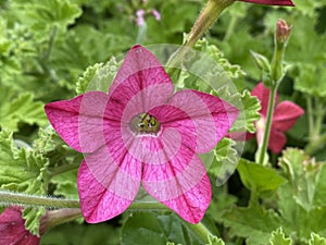
[[[273,114],[273,128],[281,132],[290,130],[304,110],[291,101],[283,101],[277,105]]]

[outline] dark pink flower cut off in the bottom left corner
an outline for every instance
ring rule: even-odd
[[[0,215],[1,245],[38,245],[40,238],[25,229],[18,207],[9,207]]]

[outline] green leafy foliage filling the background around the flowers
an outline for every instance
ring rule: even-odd
[[[209,170],[214,195],[203,220],[215,235],[208,240],[211,245],[326,244],[326,2],[294,2],[296,8],[236,2],[196,46],[226,70],[239,90],[234,97],[217,91],[243,105],[242,121],[233,130],[254,132],[260,107],[244,89],[255,86],[261,73],[250,50],[272,58],[276,21],[293,24],[279,94],[280,100],[294,101],[306,112],[287,134],[292,148],[271,156],[271,166],[262,167],[251,162],[256,144],[249,142],[237,172],[218,187],[216,177],[223,180],[236,168],[230,167],[236,151],[228,138],[216,146]],[[180,45],[202,5],[197,0],[0,0],[0,189],[78,198],[76,170],[83,156],[49,127],[43,105],[84,93],[93,76],[112,79],[120,65],[114,57],[137,40]],[[146,29],[136,25],[139,9],[147,10]],[[161,21],[151,14],[153,9]],[[210,91],[197,83],[191,86]],[[26,209],[26,228],[37,234],[43,213]],[[202,244],[177,216],[158,211],[126,212],[102,224],[59,225],[42,236],[41,244],[153,241]]]

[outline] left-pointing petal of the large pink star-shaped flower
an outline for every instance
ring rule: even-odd
[[[71,100],[46,105],[50,123],[72,148],[80,152],[92,152],[104,145],[103,127],[111,120],[104,110],[109,96],[102,91],[89,91]]]

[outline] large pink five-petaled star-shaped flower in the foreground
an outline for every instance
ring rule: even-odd
[[[88,91],[46,106],[59,135],[85,152],[78,171],[82,212],[90,222],[121,215],[140,184],[188,222],[199,222],[211,185],[198,154],[224,137],[238,110],[192,89],[174,94],[158,59],[141,46],[127,53],[109,94]]]

